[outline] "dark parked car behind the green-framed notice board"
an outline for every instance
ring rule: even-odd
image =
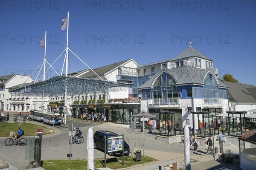
[[[118,134],[108,131],[108,130],[98,130],[93,135],[93,141],[94,141],[94,149],[101,149],[104,150],[105,145],[105,136],[118,136]],[[130,147],[129,145],[124,141],[124,156],[128,156],[130,153]],[[108,153],[110,156],[122,156],[122,151],[117,152],[110,152]]]

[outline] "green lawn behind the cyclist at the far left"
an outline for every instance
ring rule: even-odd
[[[8,137],[11,131],[17,132],[19,123],[0,122],[0,137]],[[43,135],[49,134],[49,128],[46,126],[36,125],[33,123],[20,123],[20,129],[24,130],[23,136],[36,136],[38,129],[43,130]]]

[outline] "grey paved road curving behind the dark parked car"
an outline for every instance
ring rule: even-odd
[[[49,126],[49,125],[45,125],[45,126]],[[80,127],[81,131],[83,132],[83,136],[85,138],[87,135],[87,130],[89,128],[90,127]],[[68,141],[70,139],[70,136],[68,136],[69,128],[56,128],[56,129],[58,130],[58,133],[46,135],[46,136],[43,136],[42,138],[43,140],[42,140],[41,160],[67,159],[67,153],[70,153],[70,144],[68,144]],[[132,147],[133,133],[128,128],[120,127],[119,125],[114,126],[111,123],[105,123],[103,125],[93,126],[93,131],[96,131],[96,130],[110,130],[117,134],[124,134],[125,140],[128,142],[130,147]],[[29,149],[30,144],[28,144],[27,146],[16,146],[16,145],[5,146],[4,140],[6,138],[0,138],[0,139],[1,139],[0,159],[2,159],[4,163],[22,162],[27,159],[26,152]],[[139,130],[136,130],[136,133],[135,133],[135,147],[137,149],[143,150],[143,134],[142,132],[139,132]],[[183,144],[180,144],[180,143],[167,144],[164,142],[159,142],[155,139],[155,135],[145,134],[145,149],[165,151],[165,152],[169,151],[172,153],[183,153]],[[199,146],[199,149],[200,149],[200,146]],[[193,151],[191,152],[193,153]],[[82,144],[73,144],[71,153],[73,153],[72,159],[86,159],[87,158],[86,142]],[[95,154],[95,159],[104,158],[104,153],[100,150],[95,150],[94,154]],[[107,156],[107,157],[110,157],[110,156]]]

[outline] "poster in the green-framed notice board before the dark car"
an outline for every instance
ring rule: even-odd
[[[123,150],[123,139],[122,136],[108,137],[108,153]]]

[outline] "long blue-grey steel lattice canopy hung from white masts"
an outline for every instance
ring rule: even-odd
[[[80,77],[58,76],[43,82],[17,88],[10,91],[11,95],[18,96],[64,96],[65,87],[67,95],[80,95],[88,93],[104,93],[111,91],[124,91],[133,84],[125,82],[113,82],[107,80],[88,79]]]

